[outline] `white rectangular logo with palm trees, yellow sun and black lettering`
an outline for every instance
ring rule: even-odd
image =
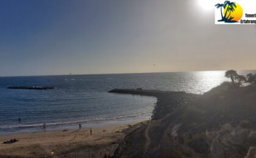
[[[217,3],[215,5],[215,24],[256,24],[255,4],[255,0]]]

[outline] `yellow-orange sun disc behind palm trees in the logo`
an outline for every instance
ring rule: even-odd
[[[229,19],[229,18],[232,18],[232,21],[240,21],[240,19],[243,17],[243,8],[241,7],[241,5],[235,3],[236,5],[236,8],[234,7],[233,11],[232,10],[227,10],[228,7],[226,7],[224,9],[224,16],[226,14],[226,18]]]

